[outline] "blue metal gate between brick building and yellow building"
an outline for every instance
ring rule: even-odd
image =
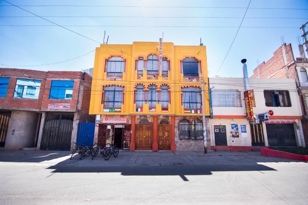
[[[92,145],[94,140],[95,123],[79,123],[77,133],[77,144]]]

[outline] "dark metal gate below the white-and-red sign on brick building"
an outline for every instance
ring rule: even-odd
[[[47,112],[42,150],[70,150],[74,113]]]

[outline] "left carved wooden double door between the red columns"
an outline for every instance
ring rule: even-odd
[[[152,150],[152,124],[136,124],[136,150]]]

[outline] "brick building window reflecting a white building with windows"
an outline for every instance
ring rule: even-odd
[[[13,97],[39,99],[41,81],[17,78]]]

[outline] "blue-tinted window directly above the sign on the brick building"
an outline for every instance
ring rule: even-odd
[[[49,99],[72,99],[74,81],[51,81]]]

